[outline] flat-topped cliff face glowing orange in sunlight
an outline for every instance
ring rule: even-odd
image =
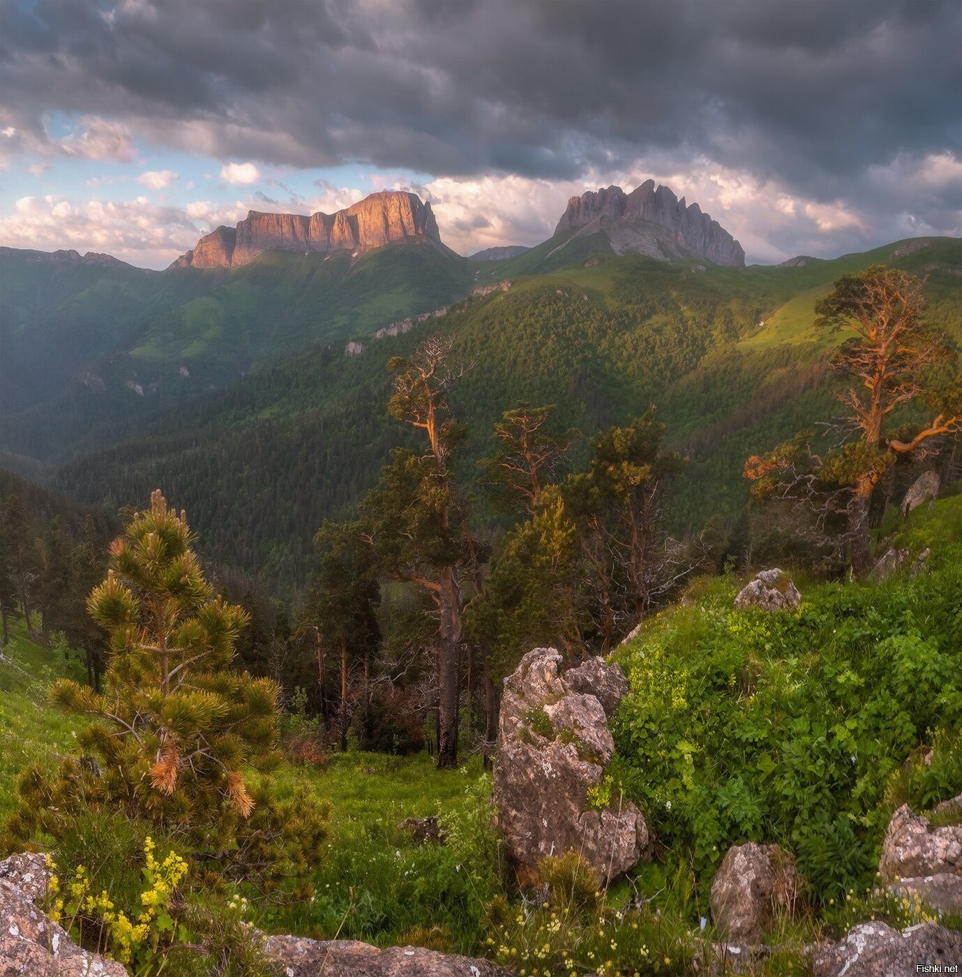
[[[232,268],[246,265],[262,251],[335,251],[380,247],[429,237],[440,243],[430,203],[414,193],[372,193],[334,214],[263,214],[248,212],[236,228],[218,228],[197,241],[173,267]]]

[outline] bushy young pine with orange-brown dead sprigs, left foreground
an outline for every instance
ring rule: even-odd
[[[276,758],[278,690],[231,669],[247,616],[214,594],[191,542],[185,514],[158,489],[110,545],[87,601],[110,636],[104,692],[69,680],[52,691],[65,711],[93,717],[77,739],[99,776],[72,760],[54,783],[28,771],[8,828],[56,836],[72,793],[185,832],[226,870],[276,882],[316,856],[324,819],[303,796],[279,804],[265,783],[248,786],[248,772]]]

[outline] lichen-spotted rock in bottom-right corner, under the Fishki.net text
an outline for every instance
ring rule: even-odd
[[[904,933],[884,922],[853,926],[844,940],[823,944],[813,960],[815,977],[902,977],[929,964],[962,960],[962,933],[927,922]],[[952,973],[942,969],[930,973]]]

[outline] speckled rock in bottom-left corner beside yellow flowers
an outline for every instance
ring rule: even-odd
[[[122,964],[78,947],[39,909],[49,877],[40,855],[0,862],[0,977],[127,977]]]

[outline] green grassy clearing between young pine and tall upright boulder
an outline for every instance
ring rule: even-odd
[[[327,768],[285,764],[272,774],[281,793],[295,782],[329,801],[331,836],[313,874],[314,899],[285,909],[262,907],[255,921],[272,932],[364,940],[379,946],[432,942],[477,953],[481,917],[496,894],[496,861],[481,856],[490,815],[469,794],[481,782],[478,758],[439,771],[425,754],[349,752]],[[416,845],[397,826],[440,815],[460,826],[448,844]],[[256,894],[251,894],[252,902]],[[430,933],[430,936],[428,935]]]

